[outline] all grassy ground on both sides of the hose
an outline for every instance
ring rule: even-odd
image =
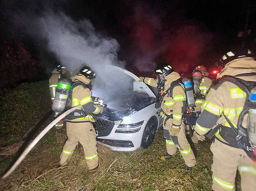
[[[4,119],[3,122],[0,120],[0,125],[5,126],[0,130],[1,134],[5,134],[1,138],[0,153],[6,155],[0,155],[0,165],[7,167],[23,143],[23,134],[48,111],[51,105],[48,82],[21,84],[5,93],[3,98],[1,107],[7,112],[0,115],[0,119]],[[47,120],[46,124],[51,120]],[[0,181],[0,190],[210,190],[210,143],[203,142],[197,145],[200,151],[197,153],[196,167],[193,172],[188,172],[178,152],[169,160],[160,160],[160,155],[166,152],[162,134],[161,130],[157,132],[153,145],[148,149],[140,148],[134,152],[116,152],[98,145],[100,169],[93,174],[88,171],[83,161],[81,145],[77,146],[65,169],[55,168],[67,136],[65,129],[51,129],[14,173],[5,181]],[[0,172],[3,170],[4,168],[1,168]]]

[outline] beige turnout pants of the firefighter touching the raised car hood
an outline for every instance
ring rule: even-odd
[[[170,121],[170,120],[168,120]],[[166,150],[169,155],[174,155],[177,151],[177,147],[179,148],[179,151],[188,167],[195,166],[196,158],[194,156],[193,151],[191,150],[191,147],[188,143],[188,140],[186,138],[184,125],[181,124],[181,131],[177,136],[170,136],[170,122],[167,125],[164,126],[163,134],[166,141]]]

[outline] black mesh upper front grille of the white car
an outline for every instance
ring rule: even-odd
[[[109,120],[103,120],[95,117],[96,122],[93,123],[94,128],[98,132],[99,137],[108,136],[112,131],[115,123]]]

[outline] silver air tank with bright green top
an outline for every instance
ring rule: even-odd
[[[62,113],[65,110],[70,87],[70,81],[67,79],[62,79],[59,81],[52,106],[52,110],[56,115]]]

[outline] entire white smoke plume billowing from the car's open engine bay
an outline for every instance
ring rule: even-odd
[[[96,32],[88,19],[76,21],[63,12],[46,10],[40,14],[19,11],[16,15],[19,17],[13,17],[14,25],[35,42],[45,42],[42,47],[47,47],[72,74],[82,65],[95,71],[93,96],[104,98],[109,103],[132,91],[134,79],[109,67],[125,65],[118,59],[119,43]]]

